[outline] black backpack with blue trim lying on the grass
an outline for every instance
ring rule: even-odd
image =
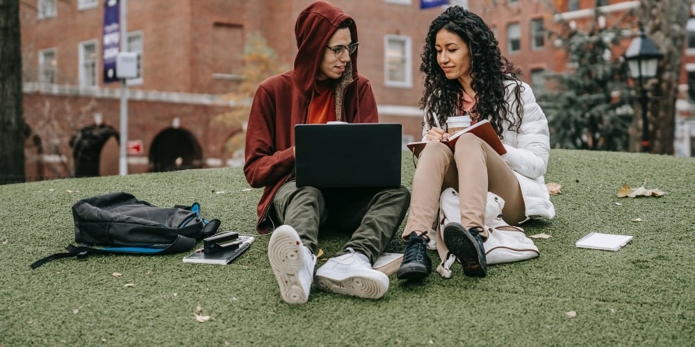
[[[75,242],[67,253],[44,257],[32,269],[63,257],[90,254],[170,254],[190,251],[197,240],[211,236],[220,227],[218,219],[207,220],[199,203],[159,208],[125,192],[93,196],[72,205]]]

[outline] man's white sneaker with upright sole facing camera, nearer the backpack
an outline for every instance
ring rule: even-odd
[[[280,295],[286,303],[306,303],[313,281],[316,257],[302,244],[291,226],[279,226],[268,242],[268,259],[275,273]]]

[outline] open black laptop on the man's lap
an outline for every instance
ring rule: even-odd
[[[400,187],[402,125],[297,124],[297,187]]]

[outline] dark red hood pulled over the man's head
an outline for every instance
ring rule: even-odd
[[[295,24],[297,56],[294,62],[294,78],[302,91],[311,92],[316,89],[316,75],[328,40],[347,19],[352,17],[327,1],[311,3],[297,17]],[[348,28],[352,42],[357,42],[357,26],[354,24],[354,19]],[[344,74],[352,73],[351,77],[357,78],[357,51],[350,55],[349,64],[352,65],[352,69],[346,68]]]

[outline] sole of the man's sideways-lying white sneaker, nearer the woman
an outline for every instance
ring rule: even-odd
[[[378,299],[389,290],[389,276],[379,271],[369,271],[341,279],[330,278],[326,274],[321,275],[317,272],[316,286],[321,290],[337,294]]]

